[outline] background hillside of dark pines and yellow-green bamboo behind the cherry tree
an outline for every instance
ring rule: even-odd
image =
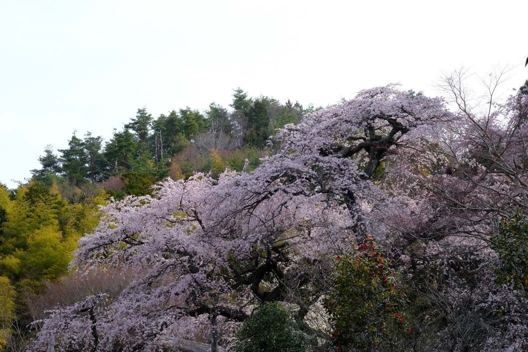
[[[0,184],[0,346],[24,348],[30,323],[58,299],[45,292],[68,273],[77,241],[93,232],[109,197],[150,194],[167,176],[253,170],[271,152],[268,137],[310,111],[239,88],[229,110],[211,103],[203,113],[186,107],[155,118],[140,108],[109,141],[74,131],[68,148],[46,146],[30,180],[11,190]]]

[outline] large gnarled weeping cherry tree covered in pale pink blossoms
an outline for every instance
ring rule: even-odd
[[[152,197],[110,203],[72,263],[136,273],[86,318],[97,325],[98,348],[192,337],[204,315],[240,321],[266,301],[295,305],[304,319],[327,289],[332,256],[377,226],[366,209],[383,204],[373,182],[383,160],[412,144],[417,129],[450,117],[440,99],[394,85],[361,91],[278,131],[277,153],[250,174],[166,180]],[[69,307],[52,315],[40,341],[55,343],[46,329],[75,315]],[[324,327],[306,329],[325,336]],[[91,331],[79,325],[61,341],[91,341]]]

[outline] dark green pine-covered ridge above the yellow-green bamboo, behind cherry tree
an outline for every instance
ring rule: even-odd
[[[266,141],[287,123],[298,123],[304,113],[299,103],[283,105],[269,97],[248,97],[234,91],[231,109],[211,103],[204,113],[189,107],[155,118],[146,108],[114,130],[109,141],[90,132],[75,131],[67,149],[55,155],[47,146],[39,158],[41,169],[34,179],[50,185],[55,176],[71,185],[102,184],[114,197],[145,195],[156,182],[171,176],[188,178],[195,172],[217,175],[225,168],[241,170],[248,158],[249,169],[259,164]]]

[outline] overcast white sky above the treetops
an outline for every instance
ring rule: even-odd
[[[0,182],[24,182],[73,130],[108,140],[157,117],[250,96],[326,106],[442,71],[516,65],[528,78],[528,4],[482,1],[0,0]]]

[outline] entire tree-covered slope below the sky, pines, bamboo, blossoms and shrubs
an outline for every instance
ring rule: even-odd
[[[527,350],[528,81],[499,101],[504,73],[308,111],[238,89],[46,148],[0,193],[6,349],[178,350],[215,320],[237,352]]]

